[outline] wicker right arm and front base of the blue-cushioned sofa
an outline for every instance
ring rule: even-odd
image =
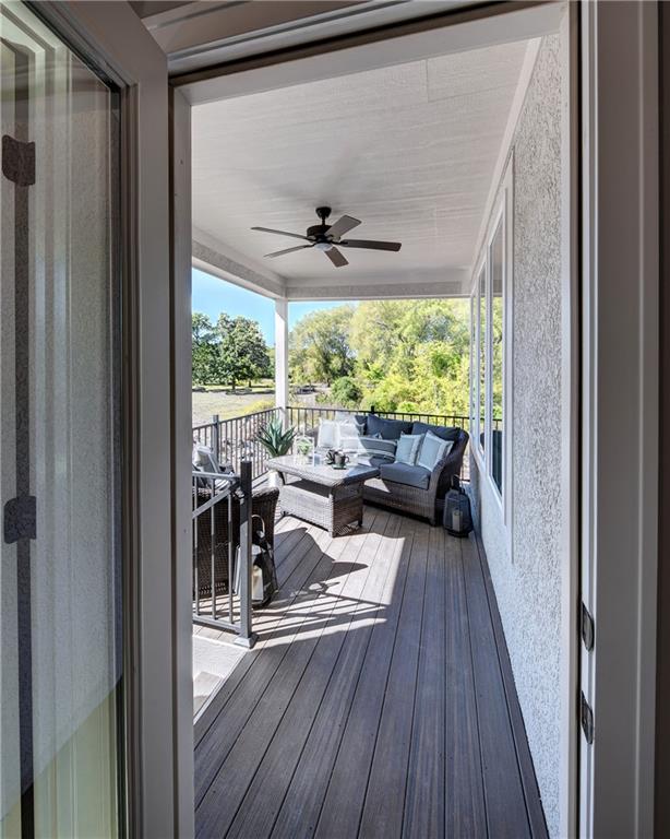
[[[448,454],[438,461],[432,470],[427,489],[373,477],[363,485],[363,499],[400,512],[421,516],[435,524],[442,517],[444,496],[451,487],[452,476],[460,474],[468,439],[467,432],[458,432]]]

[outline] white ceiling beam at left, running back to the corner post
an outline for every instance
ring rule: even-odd
[[[282,277],[254,267],[248,259],[224,247],[214,237],[193,228],[192,263],[201,271],[220,276],[235,285],[262,294],[264,297],[284,297],[286,284]]]

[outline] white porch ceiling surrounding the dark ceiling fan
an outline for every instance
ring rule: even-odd
[[[287,285],[439,281],[469,268],[526,42],[454,54],[193,108],[193,225]],[[253,225],[303,234],[314,208],[362,221],[356,238],[399,253],[316,250]]]

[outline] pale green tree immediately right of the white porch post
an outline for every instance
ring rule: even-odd
[[[349,326],[355,307],[350,304],[306,315],[289,335],[289,371],[294,381],[335,379],[354,370]]]

